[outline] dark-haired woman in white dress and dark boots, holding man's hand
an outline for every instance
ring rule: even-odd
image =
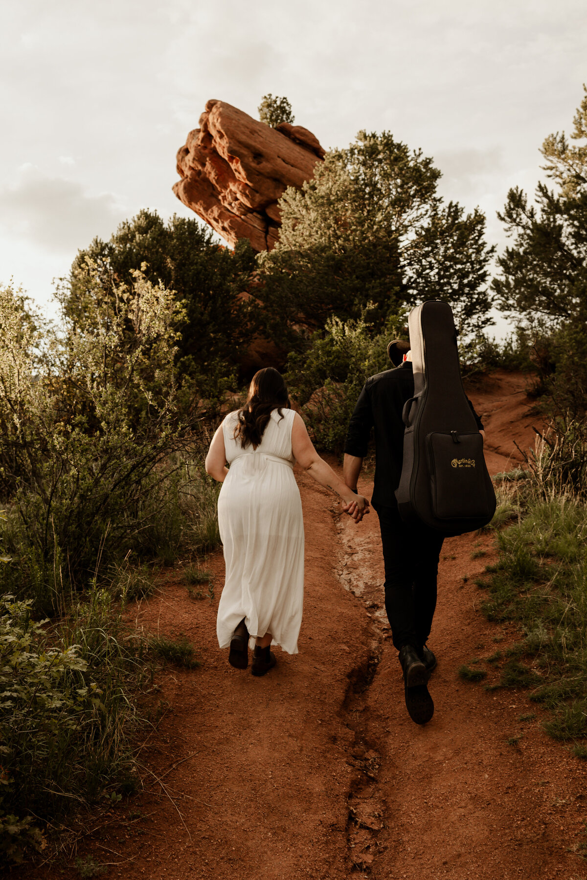
[[[226,574],[216,634],[229,663],[253,675],[275,666],[269,645],[297,654],[304,599],[304,522],[294,462],[342,499],[360,522],[369,502],[340,480],[312,445],[302,417],[290,409],[283,378],[267,367],[253,376],[246,404],[216,430],[206,471],[220,480],[218,525]],[[230,465],[230,470],[226,467]]]

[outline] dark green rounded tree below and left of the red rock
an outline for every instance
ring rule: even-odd
[[[173,216],[165,224],[157,212],[142,210],[108,242],[94,238],[77,254],[59,298],[73,326],[99,334],[115,290],[142,270],[151,284],[174,291],[181,304],[175,355],[180,376],[202,397],[214,398],[231,385],[256,332],[254,302],[241,296],[253,268],[254,252],[245,239],[231,251],[195,219]]]

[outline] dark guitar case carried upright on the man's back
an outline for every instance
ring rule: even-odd
[[[437,300],[409,315],[414,397],[403,409],[404,458],[395,496],[406,523],[446,536],[473,532],[495,513],[483,438],[460,378],[451,306]]]

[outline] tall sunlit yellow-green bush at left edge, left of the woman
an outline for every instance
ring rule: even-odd
[[[99,284],[88,266],[89,282]],[[108,316],[87,331],[41,334],[22,299],[0,290],[0,488],[12,583],[48,611],[83,585],[100,555],[148,523],[145,498],[183,444],[176,416],[180,305],[136,272],[113,289]],[[42,355],[40,354],[42,352]]]

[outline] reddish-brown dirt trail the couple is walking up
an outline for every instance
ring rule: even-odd
[[[523,378],[498,373],[469,396],[484,416],[490,469],[510,469],[512,439],[532,444]],[[131,880],[585,877],[572,851],[587,818],[584,762],[541,732],[523,693],[458,677],[459,665],[515,634],[478,610],[473,578],[493,558],[492,537],[444,543],[429,642],[436,713],[421,728],[407,716],[389,638],[377,517],[357,526],[297,478],[306,532],[299,655],[278,652],[265,678],[231,669],[216,645],[217,603],[188,598],[174,574],[136,620],[150,633],[186,634],[202,668],[161,674],[164,714],[140,754],[146,790],[102,818],[110,824],[78,854]],[[206,566],[217,594],[222,554]]]

